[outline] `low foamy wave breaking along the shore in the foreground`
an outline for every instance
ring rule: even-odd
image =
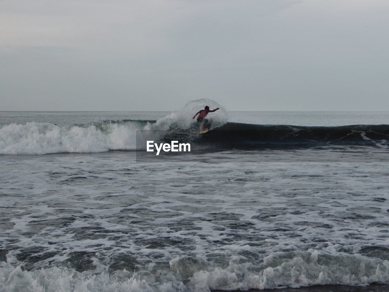
[[[291,248],[270,253],[259,262],[250,262],[250,256],[233,255],[226,266],[220,266],[200,257],[181,256],[163,266],[112,273],[56,266],[26,270],[23,265],[12,267],[3,262],[0,291],[205,292],[389,283],[388,260],[336,252],[333,246],[320,252]]]

